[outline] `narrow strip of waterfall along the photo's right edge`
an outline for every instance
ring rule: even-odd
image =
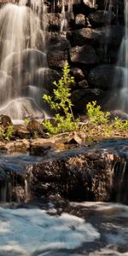
[[[111,105],[128,113],[128,2],[125,4],[125,35],[119,48],[119,57],[113,79],[114,95]],[[121,88],[121,89],[120,89]]]

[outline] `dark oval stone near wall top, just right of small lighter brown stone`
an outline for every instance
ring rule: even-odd
[[[112,22],[114,15],[108,11],[97,10],[89,15],[90,25],[92,27],[108,25]]]

